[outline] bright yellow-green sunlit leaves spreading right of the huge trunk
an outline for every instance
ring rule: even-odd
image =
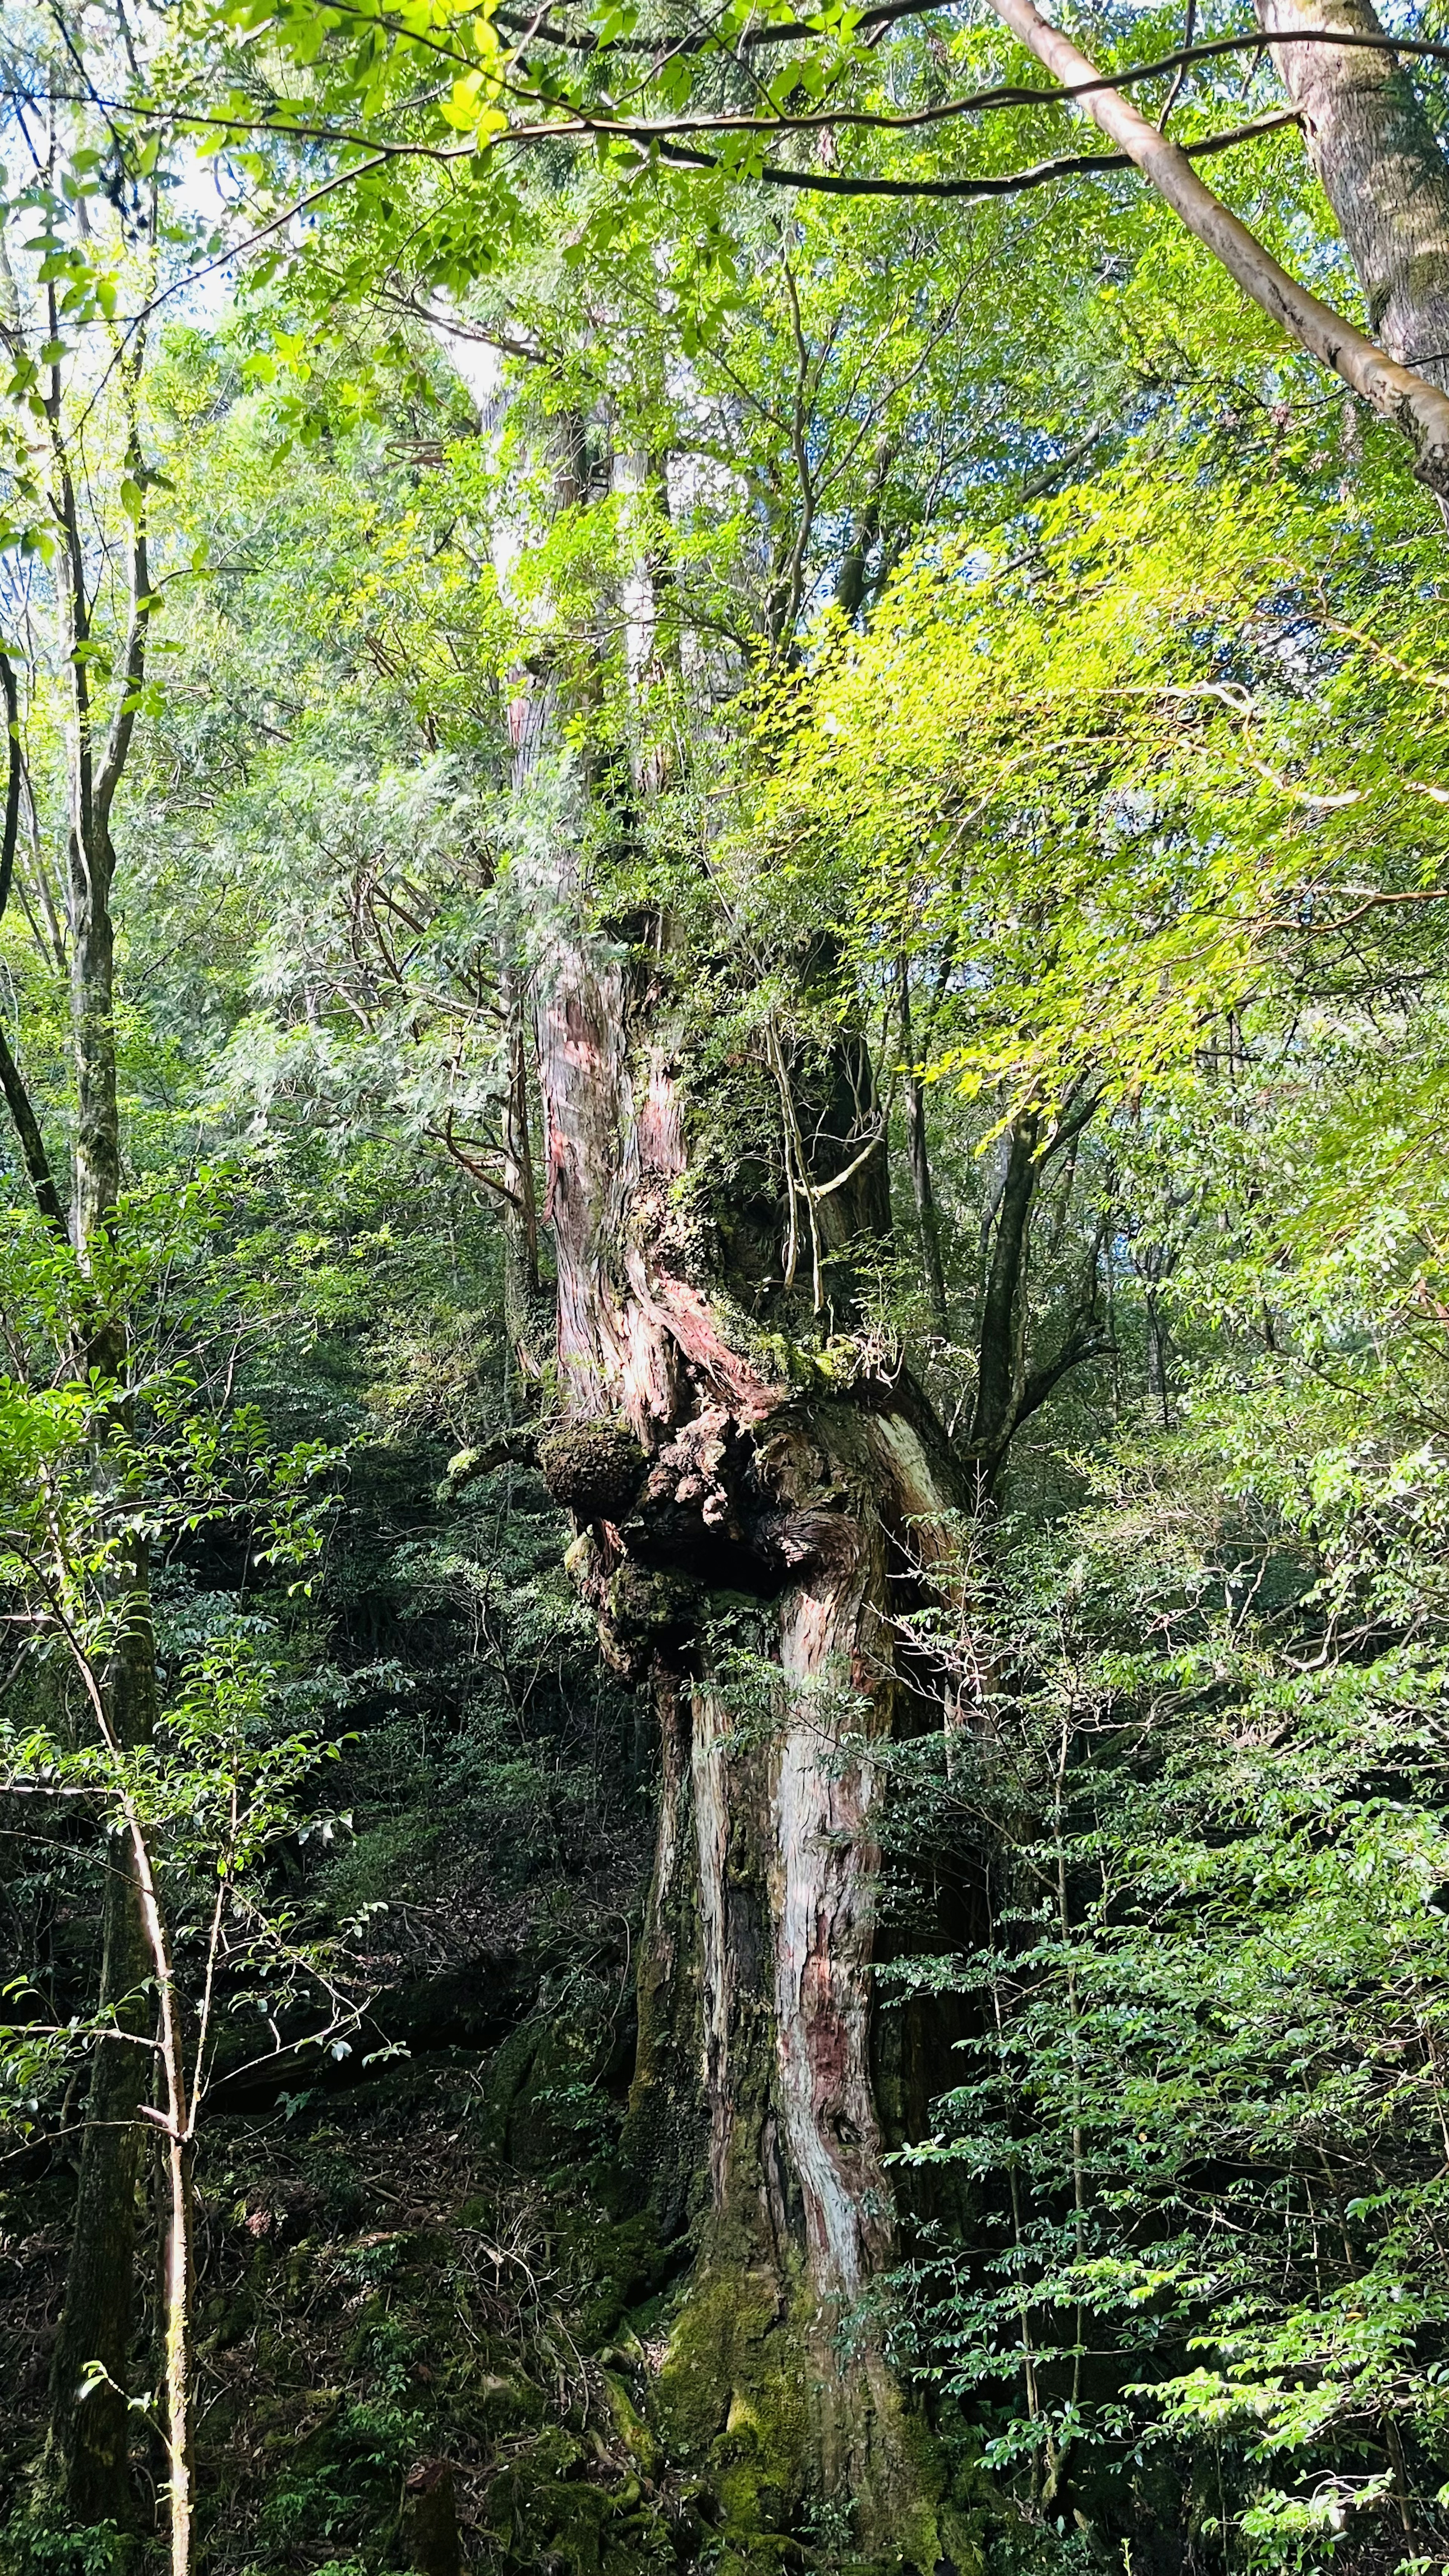
[[[1047,505],[1026,562],[931,546],[866,634],[828,623],[766,703],[768,902],[820,909],[866,974],[941,961],[933,1079],[1129,1103],[1266,981],[1299,987],[1305,925],[1325,963],[1364,920],[1392,956],[1418,902],[1434,953],[1428,629],[1413,585],[1408,616],[1390,595],[1361,497],[1333,507],[1294,464],[1248,484],[1209,440],[1171,479],[1142,459]],[[1436,538],[1403,554],[1436,600]],[[748,842],[745,889],[750,866]]]

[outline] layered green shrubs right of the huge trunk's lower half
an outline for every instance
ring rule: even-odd
[[[1011,1690],[938,1785],[987,1937],[928,1984],[972,2038],[908,2148],[969,2177],[975,2259],[923,2241],[910,2300],[1029,2499],[1207,2447],[1274,2568],[1444,2481],[1446,1710],[1439,1468],[1361,1448],[1289,1517],[1248,1409],[1003,1561]]]

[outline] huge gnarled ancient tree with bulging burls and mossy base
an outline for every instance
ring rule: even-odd
[[[539,456],[565,564],[590,502],[608,505],[608,425],[554,394]],[[766,629],[776,562],[771,544]],[[699,2246],[660,2406],[683,2450],[730,2465],[743,2550],[846,2491],[861,2548],[933,2571],[941,2481],[861,2308],[897,2251],[871,2056],[879,1744],[931,1723],[908,1613],[933,1528],[990,1489],[1091,1347],[1052,1373],[1026,1352],[1031,1211],[1073,1123],[1021,1126],[957,1455],[869,1321],[892,1242],[890,1103],[859,1007],[841,1007],[835,943],[802,925],[763,953],[712,896],[709,848],[683,876],[676,860],[673,896],[639,884],[639,788],[608,755],[598,644],[624,574],[650,629],[616,675],[624,721],[647,734],[637,670],[655,647],[699,654],[688,600],[647,582],[627,538],[606,590],[575,592],[570,616],[554,603],[529,654],[511,793],[557,1280],[559,1409],[539,1461],[603,1651],[650,1687],[660,1726],[627,2159],[660,2228]],[[701,976],[781,989],[706,1082]]]

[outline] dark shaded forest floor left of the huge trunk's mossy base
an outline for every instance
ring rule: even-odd
[[[621,2576],[699,2553],[701,2483],[665,2468],[645,2421],[668,2254],[647,2221],[608,2213],[578,2156],[529,2174],[498,2154],[511,2084],[534,2136],[567,2092],[547,2081],[547,2030],[521,2040],[492,2066],[392,2061],[266,2120],[211,2120],[196,2177],[209,2566],[441,2576],[462,2555]],[[0,2246],[15,2501],[44,2429],[67,2197],[59,2172],[15,2195]],[[144,2424],[137,2468],[142,2488],[160,2481]]]

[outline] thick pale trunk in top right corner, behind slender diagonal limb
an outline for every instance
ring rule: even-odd
[[[1274,44],[1307,157],[1348,245],[1369,330],[1449,386],[1449,167],[1372,0],[1258,0],[1263,36],[1330,28],[1356,44]]]

